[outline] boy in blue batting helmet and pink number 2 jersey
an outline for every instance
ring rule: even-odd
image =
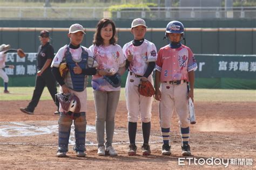
[[[189,156],[190,121],[188,98],[194,97],[194,70],[197,63],[190,48],[180,43],[184,26],[174,20],[166,26],[166,38],[171,43],[160,48],[156,63],[156,100],[160,101],[160,126],[163,137],[163,155],[171,155],[169,145],[170,119],[176,110],[182,139],[182,155]],[[187,83],[190,84],[188,92]],[[161,86],[160,86],[161,84]],[[160,86],[160,89],[159,89]]]

